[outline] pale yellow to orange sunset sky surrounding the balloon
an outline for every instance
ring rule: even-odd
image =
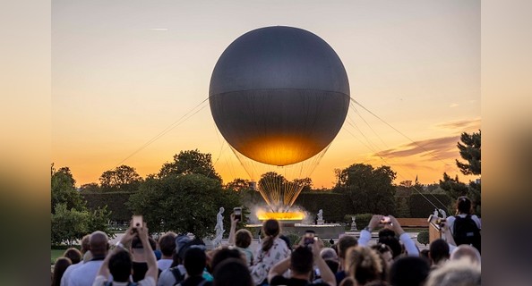
[[[462,0],[53,1],[51,161],[79,186],[197,148],[225,182],[250,179],[210,115],[210,75],[236,38],[277,25],[324,39],[351,97],[383,121],[351,105],[315,188],[355,163],[390,165],[396,182],[475,179],[455,164],[459,134],[481,125],[480,1]]]

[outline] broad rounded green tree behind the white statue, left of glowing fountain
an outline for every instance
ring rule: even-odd
[[[192,232],[203,238],[214,233],[219,207],[228,216],[241,206],[235,191],[223,189],[219,180],[202,174],[167,174],[149,178],[127,205],[133,214],[142,214],[150,231]],[[224,224],[225,228],[229,224]]]

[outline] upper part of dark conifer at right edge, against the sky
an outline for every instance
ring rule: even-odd
[[[461,163],[459,160],[456,160],[456,164],[459,167],[460,172],[465,175],[479,175],[481,172],[480,137],[480,130],[478,130],[478,133],[473,132],[471,134],[464,132],[460,136],[461,142],[457,143],[460,156],[462,159],[466,160],[467,163]]]

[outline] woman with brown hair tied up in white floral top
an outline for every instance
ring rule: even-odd
[[[255,285],[267,284],[270,268],[279,261],[290,257],[287,243],[279,239],[280,231],[279,221],[275,219],[269,219],[262,223],[262,233],[265,237],[262,240],[261,248],[254,256],[253,265],[250,267]]]

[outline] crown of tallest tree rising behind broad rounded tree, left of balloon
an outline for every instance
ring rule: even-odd
[[[159,177],[170,174],[200,173],[211,179],[222,181],[214,170],[209,153],[201,153],[198,149],[181,151],[174,156],[174,162],[165,163],[159,171]]]

